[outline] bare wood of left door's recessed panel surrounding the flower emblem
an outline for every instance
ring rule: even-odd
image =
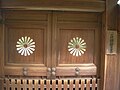
[[[44,64],[44,29],[14,29],[7,30],[8,63],[16,64]],[[21,55],[16,50],[17,41],[22,37],[30,37],[35,42],[35,51],[31,55]],[[41,44],[42,43],[42,44]]]

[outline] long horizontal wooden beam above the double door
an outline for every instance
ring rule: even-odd
[[[103,12],[105,1],[98,0],[2,0],[2,8],[22,10],[64,10],[64,11],[89,11]]]

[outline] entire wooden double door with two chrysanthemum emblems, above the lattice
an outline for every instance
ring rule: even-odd
[[[101,15],[3,10],[4,74],[99,76]]]

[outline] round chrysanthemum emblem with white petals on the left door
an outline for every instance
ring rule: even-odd
[[[16,50],[23,56],[29,56],[35,51],[35,42],[30,37],[21,37],[17,41]]]

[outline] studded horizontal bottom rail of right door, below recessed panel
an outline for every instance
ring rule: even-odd
[[[76,71],[79,71],[78,76],[96,76],[97,68],[94,64],[91,65],[81,65],[78,67],[57,67],[56,76],[75,76]]]

